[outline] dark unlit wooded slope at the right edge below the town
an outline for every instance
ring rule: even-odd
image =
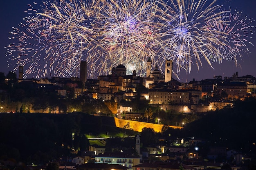
[[[256,151],[256,99],[237,101],[233,108],[209,112],[203,118],[186,124],[182,132],[209,140],[216,146],[241,151]]]

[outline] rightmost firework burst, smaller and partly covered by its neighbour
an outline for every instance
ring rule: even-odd
[[[223,46],[218,46],[219,53],[211,55],[209,59],[213,62],[221,63],[223,60],[234,60],[237,64],[236,57],[242,57],[241,52],[249,51],[247,44],[252,44],[249,39],[253,39],[253,20],[247,16],[242,17],[242,12],[231,10],[223,13],[221,20],[216,22],[207,22],[207,24],[220,32],[223,32],[225,39],[220,39]]]

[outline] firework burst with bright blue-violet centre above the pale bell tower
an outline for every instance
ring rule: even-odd
[[[212,29],[207,23],[220,20],[222,12],[220,6],[214,5],[216,0],[207,6],[206,0],[176,0],[166,6],[166,57],[173,60],[177,66],[177,73],[181,69],[191,71],[195,63],[202,66],[201,58],[209,65],[209,53],[218,54],[219,41],[225,33]],[[207,26],[206,26],[207,25]]]

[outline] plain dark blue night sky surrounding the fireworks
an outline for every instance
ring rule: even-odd
[[[0,72],[5,74],[8,71],[12,71],[11,68],[7,68],[8,57],[5,57],[6,48],[11,41],[8,39],[9,32],[12,31],[12,27],[17,27],[22,18],[27,16],[26,11],[28,9],[27,4],[32,2],[40,2],[37,0],[0,0]],[[209,0],[211,1],[211,0]],[[249,18],[256,20],[256,0],[218,0],[218,4],[222,4],[225,8],[229,6],[231,9],[239,9],[243,11],[243,15],[248,15]],[[256,22],[253,23],[256,26]],[[255,31],[255,29],[253,30]],[[242,53],[242,58],[237,57],[238,65],[236,66],[234,61],[223,61],[222,63],[213,63],[213,68],[202,59],[202,67],[197,68],[193,65],[190,73],[181,71],[179,74],[180,81],[188,82],[193,78],[195,80],[202,80],[207,78],[213,78],[213,76],[221,75],[231,77],[234,73],[238,72],[238,76],[252,75],[256,76],[256,33],[254,33],[254,40],[251,40],[254,46],[247,44],[249,53]],[[177,79],[176,77],[174,77]]]

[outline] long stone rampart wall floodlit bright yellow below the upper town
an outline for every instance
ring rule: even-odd
[[[130,129],[132,129],[133,131],[138,131],[138,132],[141,132],[144,127],[152,128],[156,132],[161,132],[161,129],[163,127],[163,124],[153,124],[153,123],[137,122],[137,121],[132,121],[132,120],[124,120],[124,119],[115,118],[115,124],[119,128],[124,128],[124,126],[127,125],[128,122],[130,124]],[[170,126],[170,127],[175,128],[175,129],[182,128],[180,126]]]

